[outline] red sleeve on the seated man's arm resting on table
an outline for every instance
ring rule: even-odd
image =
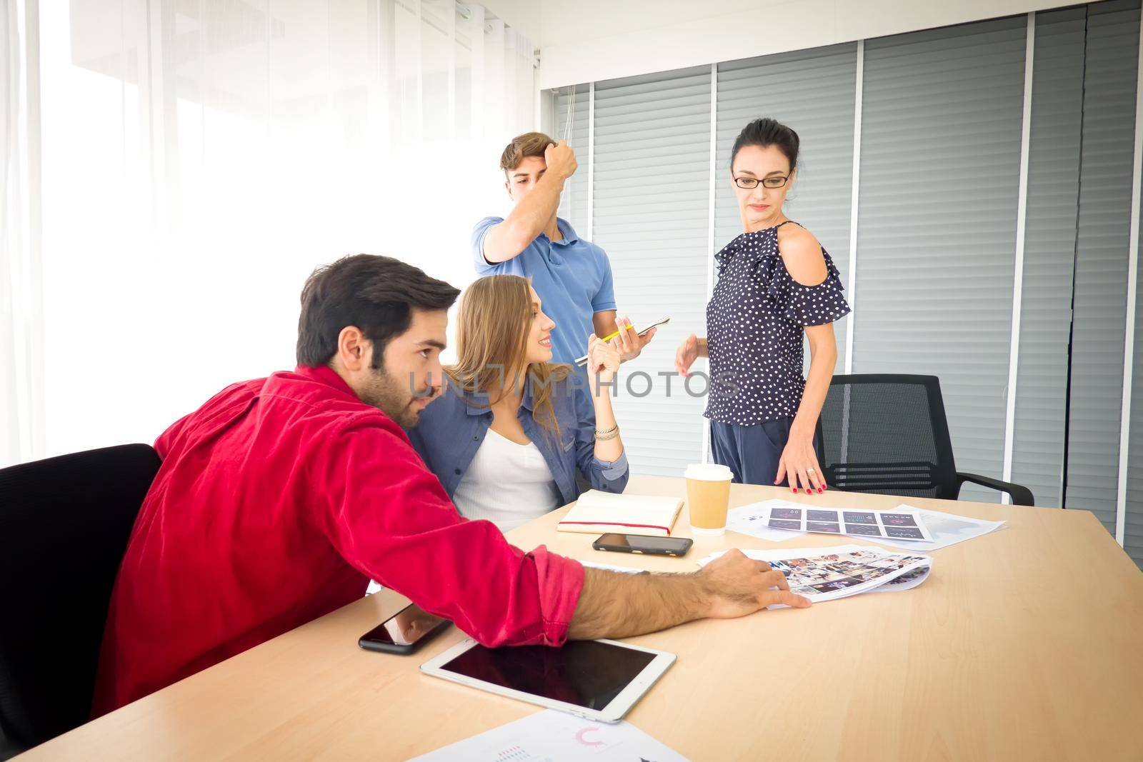
[[[563,643],[578,562],[463,519],[389,418],[362,417],[320,447],[312,504],[349,563],[485,645]]]

